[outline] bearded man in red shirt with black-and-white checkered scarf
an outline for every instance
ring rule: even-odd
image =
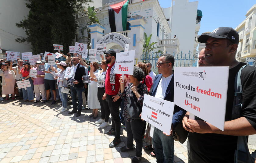
[[[115,135],[115,139],[109,144],[110,148],[116,147],[121,142],[120,139],[120,127],[121,122],[119,118],[119,107],[121,104],[121,98],[119,97],[119,78],[122,74],[115,74],[116,63],[116,51],[109,50],[104,52],[106,54],[106,63],[108,68],[105,76],[105,94],[102,99],[108,102],[108,107],[112,116],[112,127],[109,131],[105,131],[105,134]],[[124,77],[126,82],[126,77]]]

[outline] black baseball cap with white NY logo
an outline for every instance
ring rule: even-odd
[[[239,43],[239,35],[236,30],[231,27],[219,27],[213,30],[211,34],[202,34],[198,37],[198,42],[206,43],[209,37],[226,38],[235,44]]]

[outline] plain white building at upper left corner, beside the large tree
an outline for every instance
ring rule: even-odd
[[[24,16],[28,15],[29,9],[26,7],[26,0],[5,0],[0,4],[0,54],[5,58],[5,51],[30,52],[31,45],[28,43],[18,43],[17,37],[27,37],[25,30],[16,27]]]

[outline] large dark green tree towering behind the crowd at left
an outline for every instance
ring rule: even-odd
[[[34,54],[53,51],[53,44],[62,44],[64,53],[76,36],[78,25],[75,15],[80,12],[82,4],[92,0],[27,0],[30,9],[25,19],[16,23],[25,29],[27,37],[19,37],[17,42],[29,42]]]

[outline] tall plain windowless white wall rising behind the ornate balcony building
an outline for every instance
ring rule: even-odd
[[[193,52],[198,1],[176,0],[172,8],[171,38],[176,35],[180,41],[180,51]]]

